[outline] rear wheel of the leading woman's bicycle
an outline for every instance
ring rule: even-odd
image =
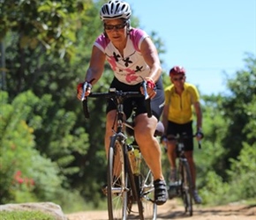
[[[139,186],[138,209],[140,219],[156,219],[157,206],[154,203],[154,178],[141,156],[140,174],[135,176],[136,184]]]

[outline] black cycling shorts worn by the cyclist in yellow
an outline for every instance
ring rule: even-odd
[[[166,135],[172,135],[172,136],[177,136],[177,135],[182,135],[186,134],[187,136],[192,136],[193,131],[192,131],[192,121],[187,122],[185,124],[177,124],[172,121],[168,121],[168,127],[167,127],[167,132]],[[184,140],[184,150],[193,150],[193,138],[187,138]]]

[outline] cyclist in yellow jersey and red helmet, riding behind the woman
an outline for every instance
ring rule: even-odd
[[[174,66],[169,70],[171,85],[165,89],[165,106],[162,114],[165,136],[177,136],[186,133],[192,136],[192,106],[194,107],[197,121],[197,139],[203,137],[202,134],[202,112],[200,109],[200,95],[193,84],[185,83],[185,70],[181,66]],[[170,164],[170,181],[177,179],[176,168],[176,144],[175,141],[167,142],[167,154]],[[184,154],[191,167],[193,181],[193,197],[196,203],[202,200],[196,190],[196,171],[193,161],[193,139],[184,140]]]

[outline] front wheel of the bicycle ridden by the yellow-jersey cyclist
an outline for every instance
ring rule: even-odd
[[[185,213],[192,216],[192,175],[186,159],[180,164],[181,173],[181,197],[184,203]]]

